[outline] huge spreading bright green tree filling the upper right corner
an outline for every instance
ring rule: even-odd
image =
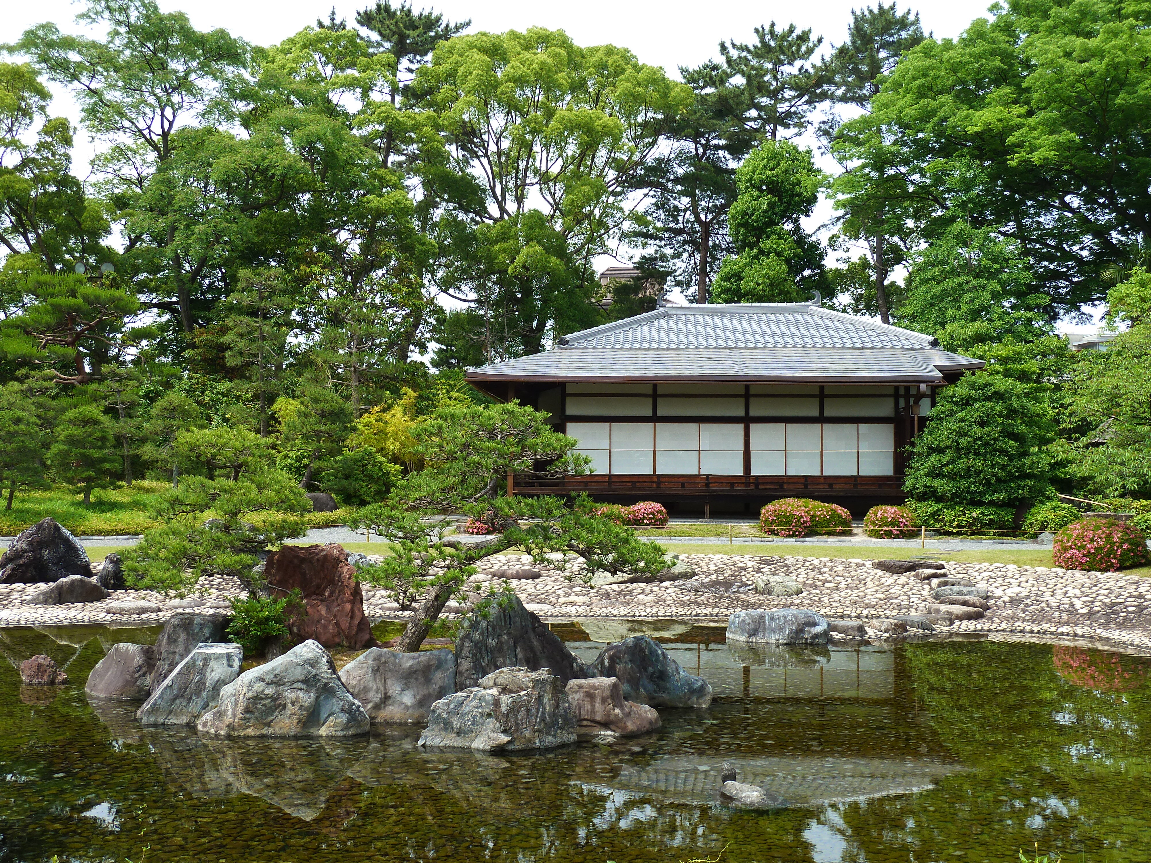
[[[1151,228],[1149,25],[1119,0],[1009,0],[959,39],[925,39],[840,128],[841,204],[925,239],[962,219],[1015,240],[1052,318],[1102,300],[1100,276]]]

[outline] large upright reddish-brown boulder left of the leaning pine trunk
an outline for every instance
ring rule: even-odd
[[[264,578],[275,596],[295,588],[304,594],[305,613],[288,621],[296,640],[312,639],[326,648],[372,644],[364,593],[341,545],[282,545],[268,555]]]

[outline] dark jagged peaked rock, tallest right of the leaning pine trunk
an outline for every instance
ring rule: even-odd
[[[497,669],[550,669],[561,682],[588,677],[587,669],[559,636],[514,594],[486,618],[472,614],[456,640],[456,687],[466,689]]]

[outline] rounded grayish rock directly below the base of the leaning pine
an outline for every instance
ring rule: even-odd
[[[432,705],[456,692],[456,655],[372,648],[348,663],[340,679],[373,723],[425,723]]]

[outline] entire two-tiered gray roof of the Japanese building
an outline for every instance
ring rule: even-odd
[[[467,369],[474,381],[932,383],[982,368],[921,333],[806,304],[661,308],[576,333],[544,353]]]

